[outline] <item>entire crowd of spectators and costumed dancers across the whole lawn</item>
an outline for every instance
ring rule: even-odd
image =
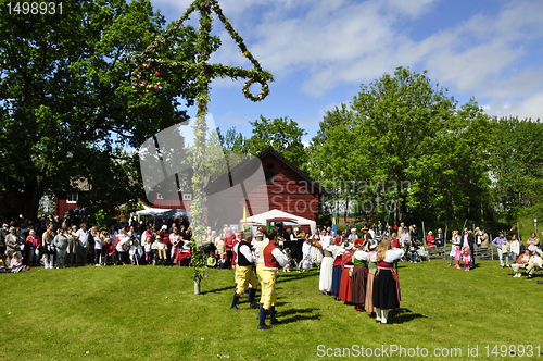
[[[542,233],[543,234],[543,233]],[[109,229],[90,228],[86,223],[41,219],[31,222],[3,222],[0,229],[0,273],[16,273],[33,266],[60,269],[74,265],[178,265],[191,261],[192,233],[188,220],[119,223]],[[300,245],[298,254],[288,245]],[[389,324],[389,310],[400,307],[397,262],[419,262],[427,248],[443,247],[446,237],[441,228],[428,232],[424,240],[416,225],[382,226],[362,229],[346,224],[337,235],[331,227],[258,229],[256,234],[224,225],[207,227],[203,236],[207,267],[235,270],[235,295],[231,309],[248,295],[250,308],[258,309],[258,328],[280,323],[276,318],[277,273],[319,270],[319,290],[338,301],[367,312],[376,322]],[[515,227],[501,232],[493,240],[483,229],[452,232],[449,266],[470,271],[476,266],[475,250],[495,247],[498,264],[512,267],[514,277],[534,276],[543,269],[543,245],[535,233],[522,242]],[[460,266],[462,265],[462,266]],[[256,276],[255,276],[256,275]],[[261,288],[260,302],[256,290]]]

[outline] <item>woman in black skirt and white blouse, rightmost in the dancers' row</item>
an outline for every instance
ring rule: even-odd
[[[394,261],[404,256],[401,248],[392,248],[390,238],[383,238],[377,253],[371,261],[377,262],[377,274],[374,281],[374,306],[376,308],[376,321],[381,324],[388,323],[389,310],[400,307],[400,281]]]

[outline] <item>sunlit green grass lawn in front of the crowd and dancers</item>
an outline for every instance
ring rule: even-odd
[[[362,347],[388,350],[383,360],[435,360],[438,348],[450,354],[442,360],[503,360],[502,351],[521,352],[521,346],[525,357],[506,358],[543,357],[539,272],[533,279],[513,278],[497,261],[481,261],[471,272],[446,264],[400,263],[403,300],[390,325],[321,295],[317,271],[280,273],[283,323],[269,331],[256,328],[257,310],[247,298],[241,310],[229,309],[232,271],[210,270],[199,296],[186,267],[0,274],[0,360],[375,359],[359,356],[369,352]],[[477,357],[468,348],[477,348]]]

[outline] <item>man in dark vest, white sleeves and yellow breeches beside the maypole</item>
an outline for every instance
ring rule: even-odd
[[[256,295],[256,287],[258,283],[254,275],[254,254],[251,251],[251,246],[245,238],[239,236],[240,241],[233,246],[233,253],[236,254],[236,294],[233,295],[232,304],[230,309],[238,310],[238,302],[241,294],[245,291],[248,285],[249,288],[248,301],[251,303],[251,308],[257,308],[256,301],[254,299]]]

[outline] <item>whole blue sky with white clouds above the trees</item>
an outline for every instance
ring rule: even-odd
[[[168,22],[191,0],[151,0]],[[316,135],[327,110],[351,102],[361,84],[397,66],[428,71],[462,103],[489,115],[543,119],[543,1],[540,0],[223,0],[262,67],[269,96],[245,99],[244,80],[216,79],[210,112],[223,130],[251,135],[250,121],[288,116]],[[191,24],[197,25],[198,15]],[[250,67],[224,30],[211,62]],[[251,88],[253,92],[258,86]],[[195,110],[192,111],[195,114]]]

